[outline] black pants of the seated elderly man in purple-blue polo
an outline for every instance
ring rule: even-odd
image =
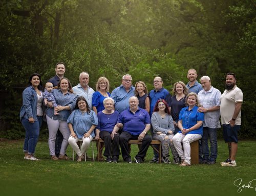
[[[139,137],[139,135],[133,136],[133,135],[129,134],[128,132],[121,133],[120,147],[121,147],[122,157],[123,157],[124,161],[126,161],[127,158],[131,158],[131,156],[129,155],[129,146],[128,146],[129,140],[137,140],[138,137]],[[140,150],[139,150],[138,154],[135,156],[136,158],[138,157],[141,160],[144,159],[144,157],[146,156],[146,151],[147,151],[148,147],[150,147],[151,141],[152,141],[151,137],[146,134],[142,140]]]

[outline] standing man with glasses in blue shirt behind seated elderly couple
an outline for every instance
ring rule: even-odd
[[[114,89],[111,98],[115,101],[115,110],[121,114],[129,108],[129,99],[134,96],[135,87],[132,86],[132,76],[125,74],[122,77],[122,84]]]

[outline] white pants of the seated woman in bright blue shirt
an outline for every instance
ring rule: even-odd
[[[175,146],[175,149],[177,150],[180,158],[182,160],[184,160],[188,165],[190,165],[190,143],[197,141],[199,139],[201,139],[202,136],[199,134],[181,134],[181,133],[177,133],[174,137],[173,137],[173,143]],[[181,142],[183,144],[183,149],[182,150],[182,145]]]

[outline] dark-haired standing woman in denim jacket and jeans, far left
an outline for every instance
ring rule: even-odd
[[[24,141],[24,159],[39,161],[34,157],[35,147],[42,122],[42,82],[37,73],[29,77],[29,86],[23,91],[23,105],[20,109],[20,120],[26,130]]]

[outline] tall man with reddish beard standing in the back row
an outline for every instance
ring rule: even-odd
[[[199,91],[203,90],[202,85],[196,80],[197,79],[197,71],[195,69],[189,69],[187,71],[187,89],[189,93],[198,94]]]

